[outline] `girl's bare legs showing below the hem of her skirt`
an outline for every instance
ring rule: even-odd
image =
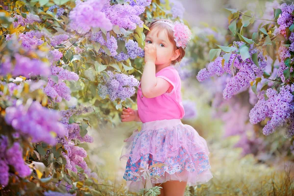
[[[162,184],[165,196],[184,196],[187,182],[185,181],[167,181]]]

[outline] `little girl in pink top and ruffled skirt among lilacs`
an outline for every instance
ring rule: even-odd
[[[185,115],[181,80],[172,66],[184,57],[191,31],[183,23],[168,20],[154,21],[149,29],[138,110],[124,108],[121,115],[122,122],[143,123],[140,132],[136,129],[124,140],[123,178],[131,192],[161,186],[160,196],[183,196],[187,185],[213,178],[206,141],[192,126],[181,123]],[[147,179],[148,172],[151,179]]]

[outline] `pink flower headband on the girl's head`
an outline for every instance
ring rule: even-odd
[[[178,48],[179,47],[182,47],[183,49],[186,48],[186,46],[188,45],[191,39],[191,34],[192,34],[191,30],[188,28],[187,25],[177,21],[174,24],[168,21],[157,21],[156,23],[165,23],[171,26],[173,31],[173,38],[174,38],[176,46]]]

